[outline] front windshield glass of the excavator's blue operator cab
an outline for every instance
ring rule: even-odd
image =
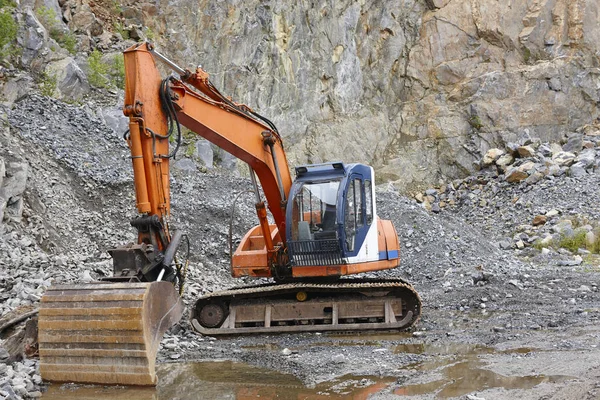
[[[292,240],[335,239],[341,179],[306,182],[293,199]]]

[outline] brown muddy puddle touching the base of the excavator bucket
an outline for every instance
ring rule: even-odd
[[[366,400],[395,378],[346,375],[307,388],[298,378],[247,364],[162,364],[157,388],[52,385],[44,400],[347,399]]]

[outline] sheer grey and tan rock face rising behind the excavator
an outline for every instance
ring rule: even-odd
[[[489,148],[557,141],[600,116],[596,0],[147,8],[125,7],[125,25],[151,27],[163,52],[201,63],[272,118],[295,164],[367,162],[410,189],[467,174]]]

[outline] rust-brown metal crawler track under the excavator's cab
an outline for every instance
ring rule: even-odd
[[[421,299],[403,280],[288,283],[231,289],[198,299],[194,329],[205,335],[408,329]]]

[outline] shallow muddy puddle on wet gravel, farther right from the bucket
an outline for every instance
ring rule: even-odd
[[[472,392],[490,388],[531,389],[543,382],[559,383],[573,377],[570,376],[504,376],[485,369],[485,362],[479,357],[490,354],[527,354],[539,351],[528,347],[507,350],[496,350],[492,347],[451,343],[435,344],[401,344],[394,348],[396,353],[413,353],[433,356],[430,361],[416,363],[404,369],[420,372],[439,372],[443,376],[431,382],[405,385],[394,390],[394,394],[402,396],[418,396],[435,394],[436,398],[460,397]]]

